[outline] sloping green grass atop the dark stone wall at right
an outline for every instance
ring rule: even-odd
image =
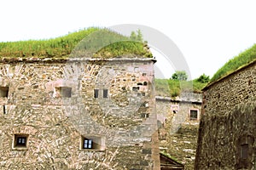
[[[219,78],[229,75],[231,72],[236,71],[243,65],[247,65],[256,59],[256,44],[248,48],[241,54],[238,54],[233,59],[230,59],[223,67],[221,67],[212,77],[210,82],[215,82]]]

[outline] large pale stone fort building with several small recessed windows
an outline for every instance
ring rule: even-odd
[[[0,169],[160,169],[154,59],[1,59]]]

